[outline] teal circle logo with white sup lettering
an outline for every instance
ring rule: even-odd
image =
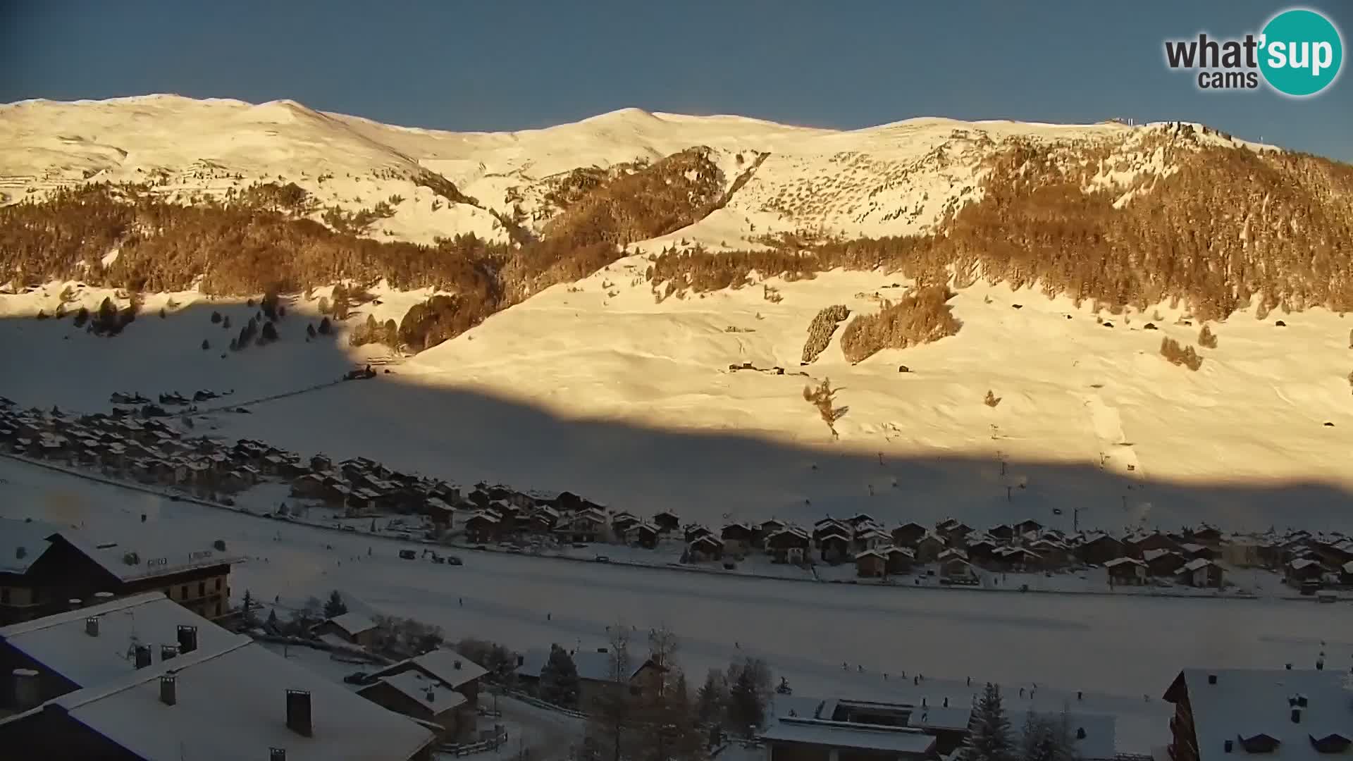
[[[1339,76],[1344,41],[1339,30],[1315,11],[1283,11],[1269,19],[1260,39],[1260,70],[1283,95],[1315,95]]]

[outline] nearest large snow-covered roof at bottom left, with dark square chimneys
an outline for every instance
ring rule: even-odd
[[[161,676],[175,677],[173,705],[160,699]],[[311,737],[287,727],[288,689],[310,693]],[[288,761],[405,760],[436,737],[244,636],[51,703],[141,758],[267,758],[284,747]]]

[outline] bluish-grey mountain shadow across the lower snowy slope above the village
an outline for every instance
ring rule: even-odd
[[[230,316],[233,328],[210,314]],[[116,337],[96,337],[65,320],[0,320],[0,395],[24,406],[107,410],[112,391],[156,401],[162,391],[223,391],[230,405],[325,385],[354,366],[338,336],[306,341],[318,318],[291,313],[280,340],[225,349],[256,314],[244,303],[192,305],[166,318],[147,309]],[[363,320],[354,310],[349,324]],[[203,351],[203,339],[211,349]],[[225,355],[225,356],[222,356]],[[522,372],[534,368],[524,367]],[[208,402],[218,404],[218,402]],[[460,483],[570,490],[616,509],[685,520],[779,517],[812,523],[866,512],[896,524],[959,517],[976,527],[1023,519],[1073,529],[1176,529],[1207,521],[1226,529],[1353,525],[1353,498],[1312,481],[1178,483],[1138,478],[1091,463],[993,460],[936,451],[870,451],[848,439],[796,444],[725,429],[663,429],[622,420],[571,418],[545,405],[482,389],[428,386],[398,366],[260,402],[252,414],[216,413],[193,433],[253,437],[311,455],[367,456],[390,467]],[[810,410],[805,409],[805,414]]]

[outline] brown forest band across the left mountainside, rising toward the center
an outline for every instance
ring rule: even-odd
[[[421,184],[474,200],[434,180]],[[394,329],[377,326],[382,340],[398,336],[421,349],[543,288],[606,267],[628,242],[700,219],[717,203],[721,181],[706,153],[691,149],[576,188],[544,240],[498,244],[465,234],[436,245],[360,237],[391,213],[384,202],[372,210],[330,207],[321,214],[330,226],[308,219],[318,204],[295,184],[261,183],[192,206],[166,200],[146,184],[89,184],[0,209],[0,271],[20,286],[80,279],[131,292],[198,287],[238,297],[384,279],[400,290],[453,294],[421,305]],[[342,320],[348,299],[338,301],[330,309]]]

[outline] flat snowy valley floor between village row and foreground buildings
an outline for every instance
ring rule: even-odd
[[[12,460],[0,463],[0,478],[7,517],[84,523],[111,536],[225,539],[250,558],[235,571],[235,597],[248,589],[260,600],[299,603],[338,589],[364,608],[438,624],[451,638],[517,649],[602,646],[606,627],[620,622],[640,638],[670,626],[693,681],[756,654],[796,695],[948,696],[962,704],[969,677],[993,680],[1013,693],[1016,710],[1069,700],[1119,715],[1120,750],[1166,739],[1169,705],[1160,693],[1183,666],[1311,666],[1322,649],[1329,668],[1353,666],[1353,605],[1345,603],[884,590],[472,551],[456,567],[402,561],[394,540],[161,501]],[[139,523],[141,512],[150,523]],[[916,674],[924,684],[912,684]],[[1028,692],[1022,700],[1019,688],[1035,682],[1032,700]]]

